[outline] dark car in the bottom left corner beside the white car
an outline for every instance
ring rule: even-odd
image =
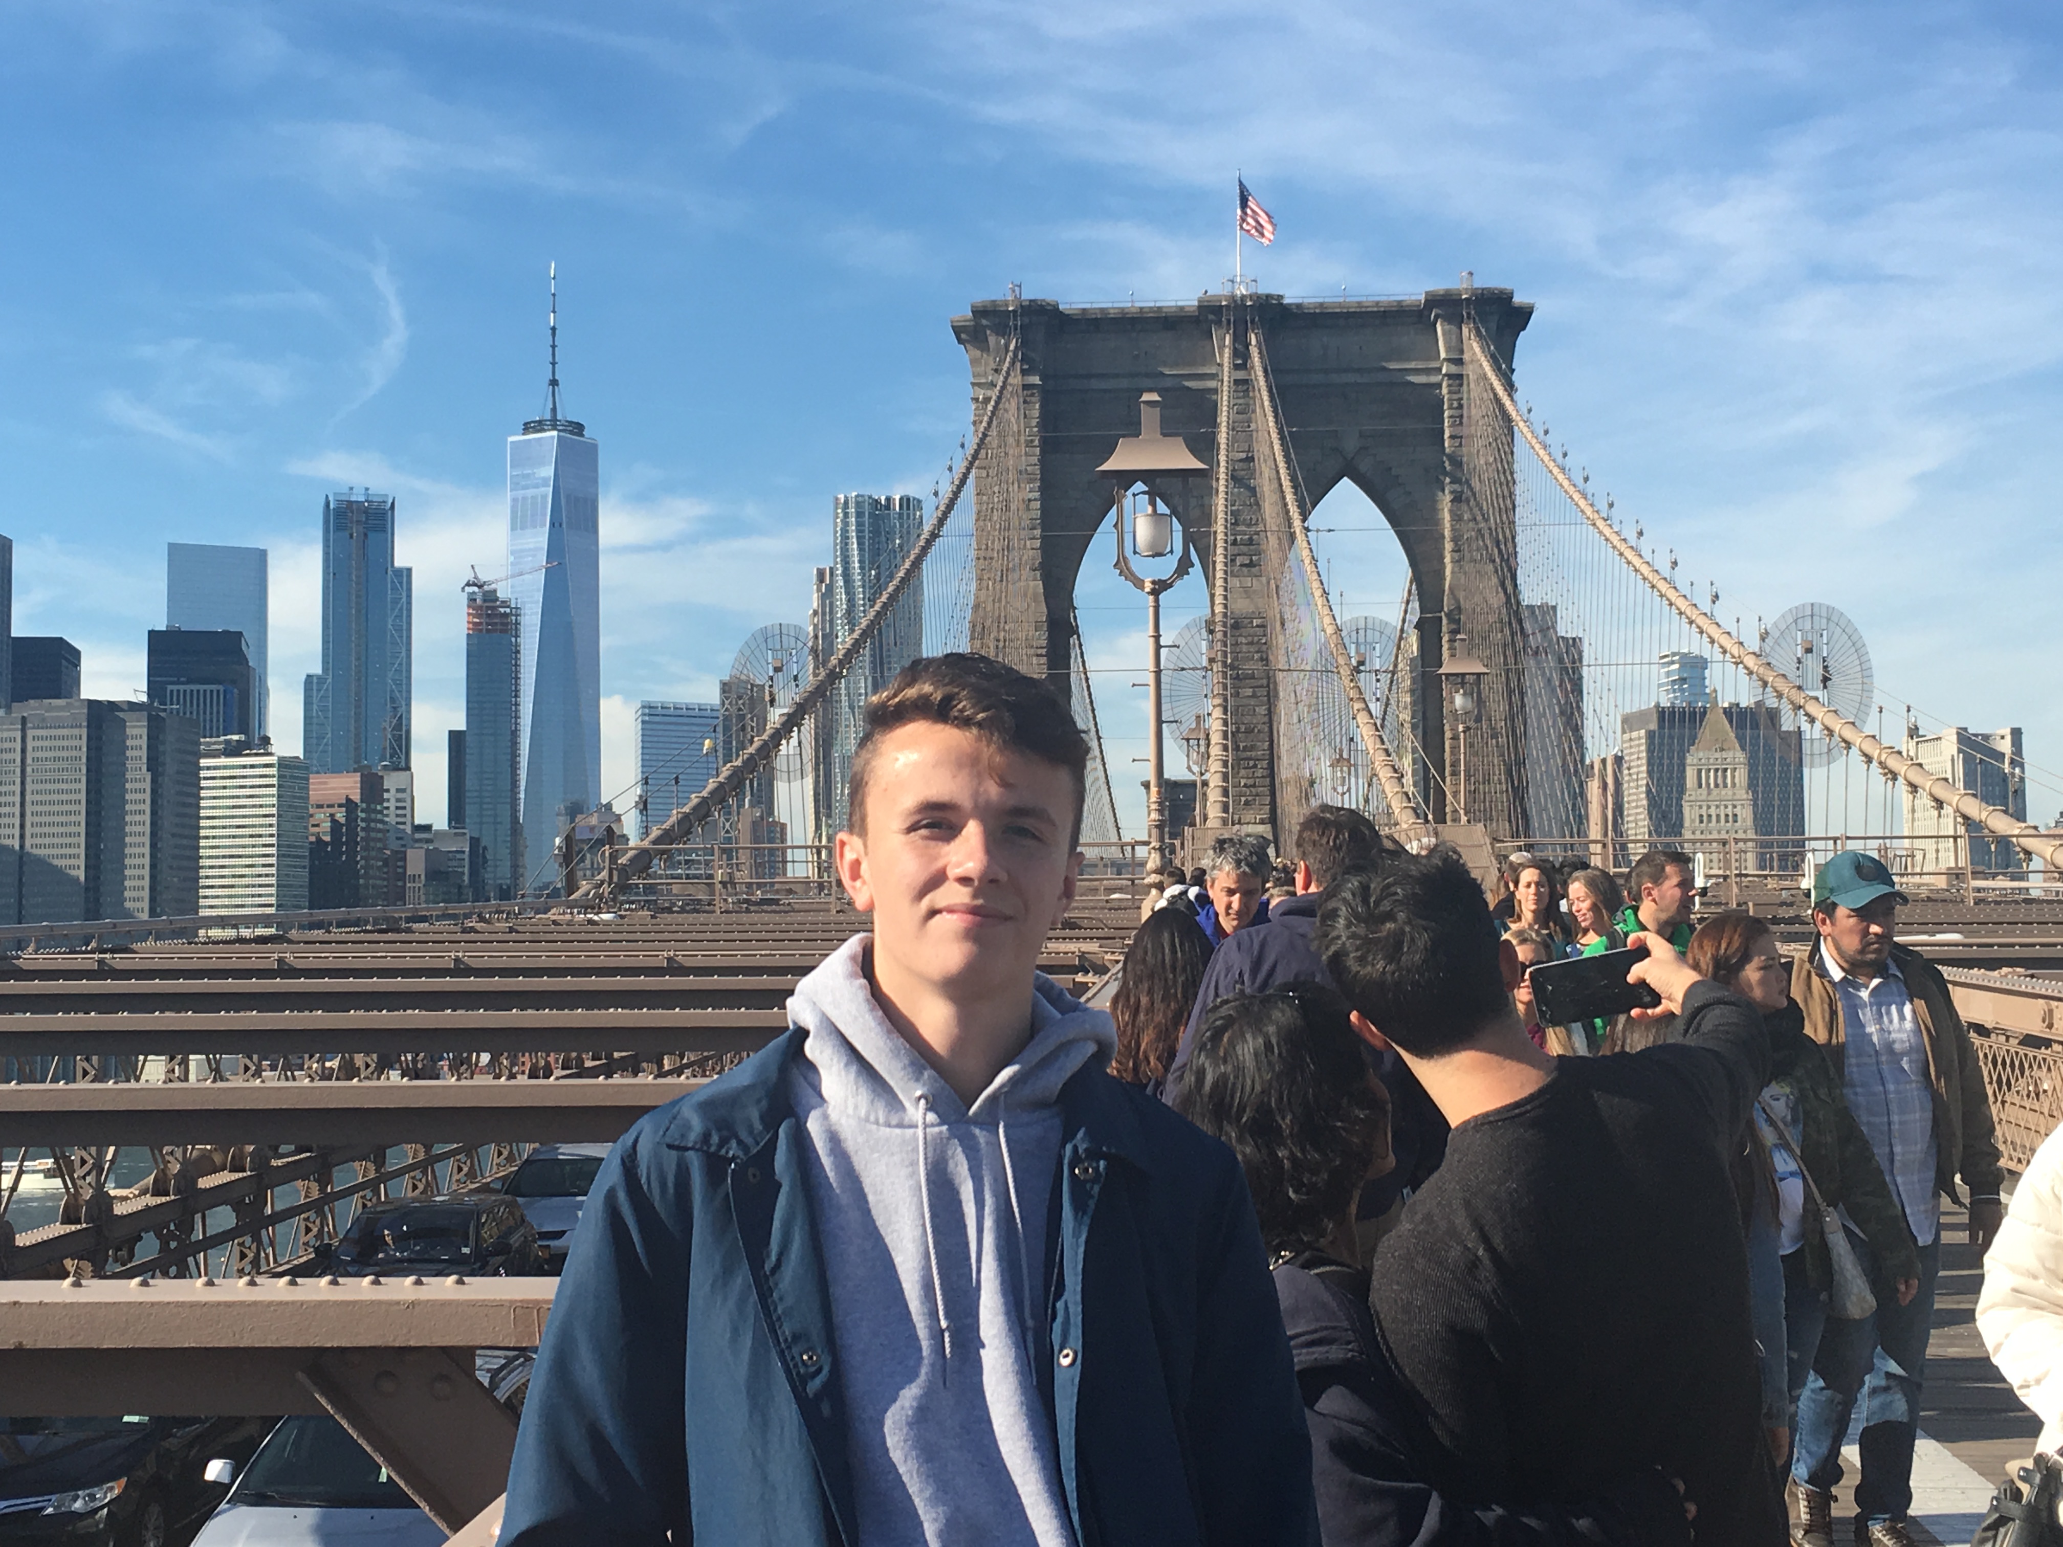
[[[252,1458],[272,1419],[0,1419],[0,1545],[165,1547],[229,1489],[202,1471]]]

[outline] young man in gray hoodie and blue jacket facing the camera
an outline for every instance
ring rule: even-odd
[[[1038,974],[1087,747],[984,656],[866,707],[873,934],[596,1182],[510,1475],[559,1541],[1304,1543],[1302,1398],[1232,1153]]]

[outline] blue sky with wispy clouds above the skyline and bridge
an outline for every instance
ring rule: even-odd
[[[1834,602],[1886,703],[2024,724],[2063,765],[2046,8],[153,0],[6,21],[17,631],[72,637],[87,689],[126,697],[163,542],[260,542],[295,745],[322,495],[388,489],[425,817],[462,720],[458,586],[499,569],[503,437],[543,398],[549,260],[567,413],[602,448],[615,788],[629,705],[708,697],[753,627],[807,617],[833,493],[928,493],[965,429],[947,318],[1011,281],[1215,289],[1234,167],[1281,225],[1265,289],[1514,287],[1539,307],[1522,396],[1729,611]],[[1351,611],[1395,598],[1386,542],[1331,551]],[[1122,763],[1137,606],[1100,573],[1081,606]],[[2032,804],[2053,815],[2063,782]]]

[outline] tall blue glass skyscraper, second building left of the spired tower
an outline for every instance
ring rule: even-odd
[[[322,501],[322,670],[301,689],[312,774],[408,767],[415,573],[394,565],[394,495]]]

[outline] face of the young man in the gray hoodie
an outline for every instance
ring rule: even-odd
[[[1075,782],[930,722],[875,749],[864,837],[838,835],[838,877],[875,916],[875,978],[961,1002],[1021,994],[1075,899]]]

